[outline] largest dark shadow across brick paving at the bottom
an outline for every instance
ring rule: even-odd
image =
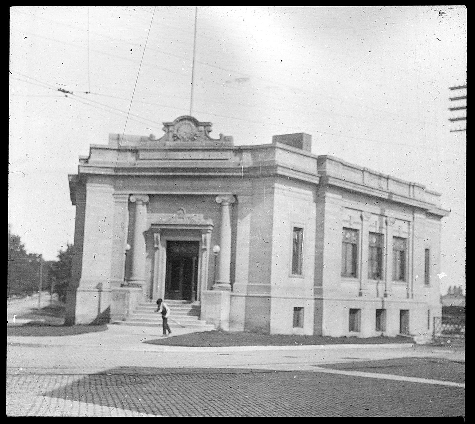
[[[460,416],[454,387],[307,371],[117,367],[44,396],[160,416]],[[59,404],[59,402],[55,402]],[[94,408],[91,408],[94,409]]]

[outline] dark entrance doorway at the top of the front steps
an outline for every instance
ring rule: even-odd
[[[197,300],[199,242],[167,241],[165,299]]]

